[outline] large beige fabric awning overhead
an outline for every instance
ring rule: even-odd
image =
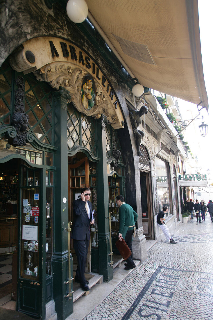
[[[208,110],[197,0],[86,2],[140,84]]]

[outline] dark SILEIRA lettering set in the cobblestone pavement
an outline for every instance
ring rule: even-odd
[[[157,313],[152,313],[149,315],[142,314],[146,310],[146,308],[154,309],[163,312],[167,312],[173,294],[175,292],[175,288],[178,282],[179,276],[169,275],[169,274],[162,274],[161,278],[157,281],[154,286],[154,289],[151,291],[151,299],[146,299],[146,303],[143,303],[142,306],[139,308],[138,316],[142,318],[146,318],[148,316],[155,315],[157,319],[161,319],[161,316]]]

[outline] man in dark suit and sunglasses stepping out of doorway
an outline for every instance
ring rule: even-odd
[[[89,291],[89,282],[86,280],[84,272],[90,242],[90,225],[95,222],[94,219],[91,221],[92,204],[89,201],[91,197],[90,189],[83,188],[80,197],[80,199],[73,201],[74,223],[72,239],[74,239],[74,249],[78,260],[75,282],[80,282],[81,288]]]

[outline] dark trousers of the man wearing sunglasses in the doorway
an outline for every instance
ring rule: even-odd
[[[86,278],[84,276],[87,260],[87,252],[89,248],[89,241],[87,240],[75,240],[74,249],[78,260],[78,266],[75,274],[75,279],[80,282],[81,285],[86,285]]]

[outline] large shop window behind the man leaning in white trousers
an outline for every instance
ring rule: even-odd
[[[171,209],[171,193],[170,193],[170,173],[169,173],[169,165],[166,161],[156,157],[156,178],[157,178],[157,209],[160,212],[164,205],[168,206],[168,212],[165,214],[172,214]]]

